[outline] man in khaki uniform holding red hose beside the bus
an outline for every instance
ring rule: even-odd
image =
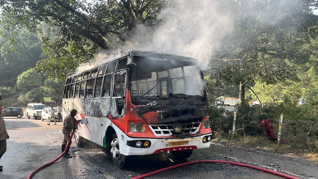
[[[72,129],[73,130],[77,129],[77,127],[74,127],[74,124],[75,124],[74,121],[76,122],[76,119],[74,118],[74,116],[76,115],[76,113],[77,113],[77,111],[75,109],[72,109],[71,113],[67,114],[67,116],[65,117],[65,119],[63,121],[62,132],[64,134],[64,139],[63,139],[63,143],[62,143],[62,153],[64,152],[64,150],[66,148],[67,141],[71,137]],[[71,143],[72,143],[72,140],[71,140]],[[68,148],[68,150],[64,154],[65,158],[72,158],[72,156],[68,153],[69,150],[70,150],[70,148]]]

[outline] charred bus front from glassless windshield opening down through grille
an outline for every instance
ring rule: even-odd
[[[153,132],[196,134],[208,106],[203,74],[195,63],[149,57],[134,57],[133,62],[131,101]]]

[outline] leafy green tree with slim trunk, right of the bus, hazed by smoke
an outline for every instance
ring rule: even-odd
[[[317,1],[226,1],[233,13],[234,31],[223,40],[211,66],[222,78],[239,86],[245,100],[245,86],[256,80],[266,84],[297,79],[297,68],[289,62],[304,63],[318,55],[317,16],[311,13]],[[306,46],[306,50],[301,50]]]

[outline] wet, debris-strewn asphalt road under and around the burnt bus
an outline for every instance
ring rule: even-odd
[[[7,152],[0,160],[3,172],[0,179],[25,179],[37,167],[53,160],[61,153],[62,123],[46,125],[47,121],[23,118],[4,118],[10,139]],[[102,148],[90,145],[77,148],[74,144],[70,152],[71,159],[61,158],[56,163],[38,172],[34,179],[121,179],[138,176],[156,169],[174,165],[169,154],[134,157],[128,169],[114,167]],[[171,154],[170,154],[171,155]],[[192,160],[228,160],[245,162],[260,167],[297,176],[299,178],[317,178],[318,163],[307,161],[293,154],[269,153],[253,148],[225,146],[212,143],[210,148],[194,150],[188,161]],[[148,178],[280,178],[261,171],[242,168],[235,165],[209,163],[183,166],[165,171]]]

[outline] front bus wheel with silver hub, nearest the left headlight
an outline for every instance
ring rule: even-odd
[[[125,168],[125,166],[127,165],[129,161],[128,159],[129,156],[120,154],[119,140],[117,138],[116,133],[113,134],[110,144],[111,144],[110,153],[111,153],[114,164],[120,169]]]

